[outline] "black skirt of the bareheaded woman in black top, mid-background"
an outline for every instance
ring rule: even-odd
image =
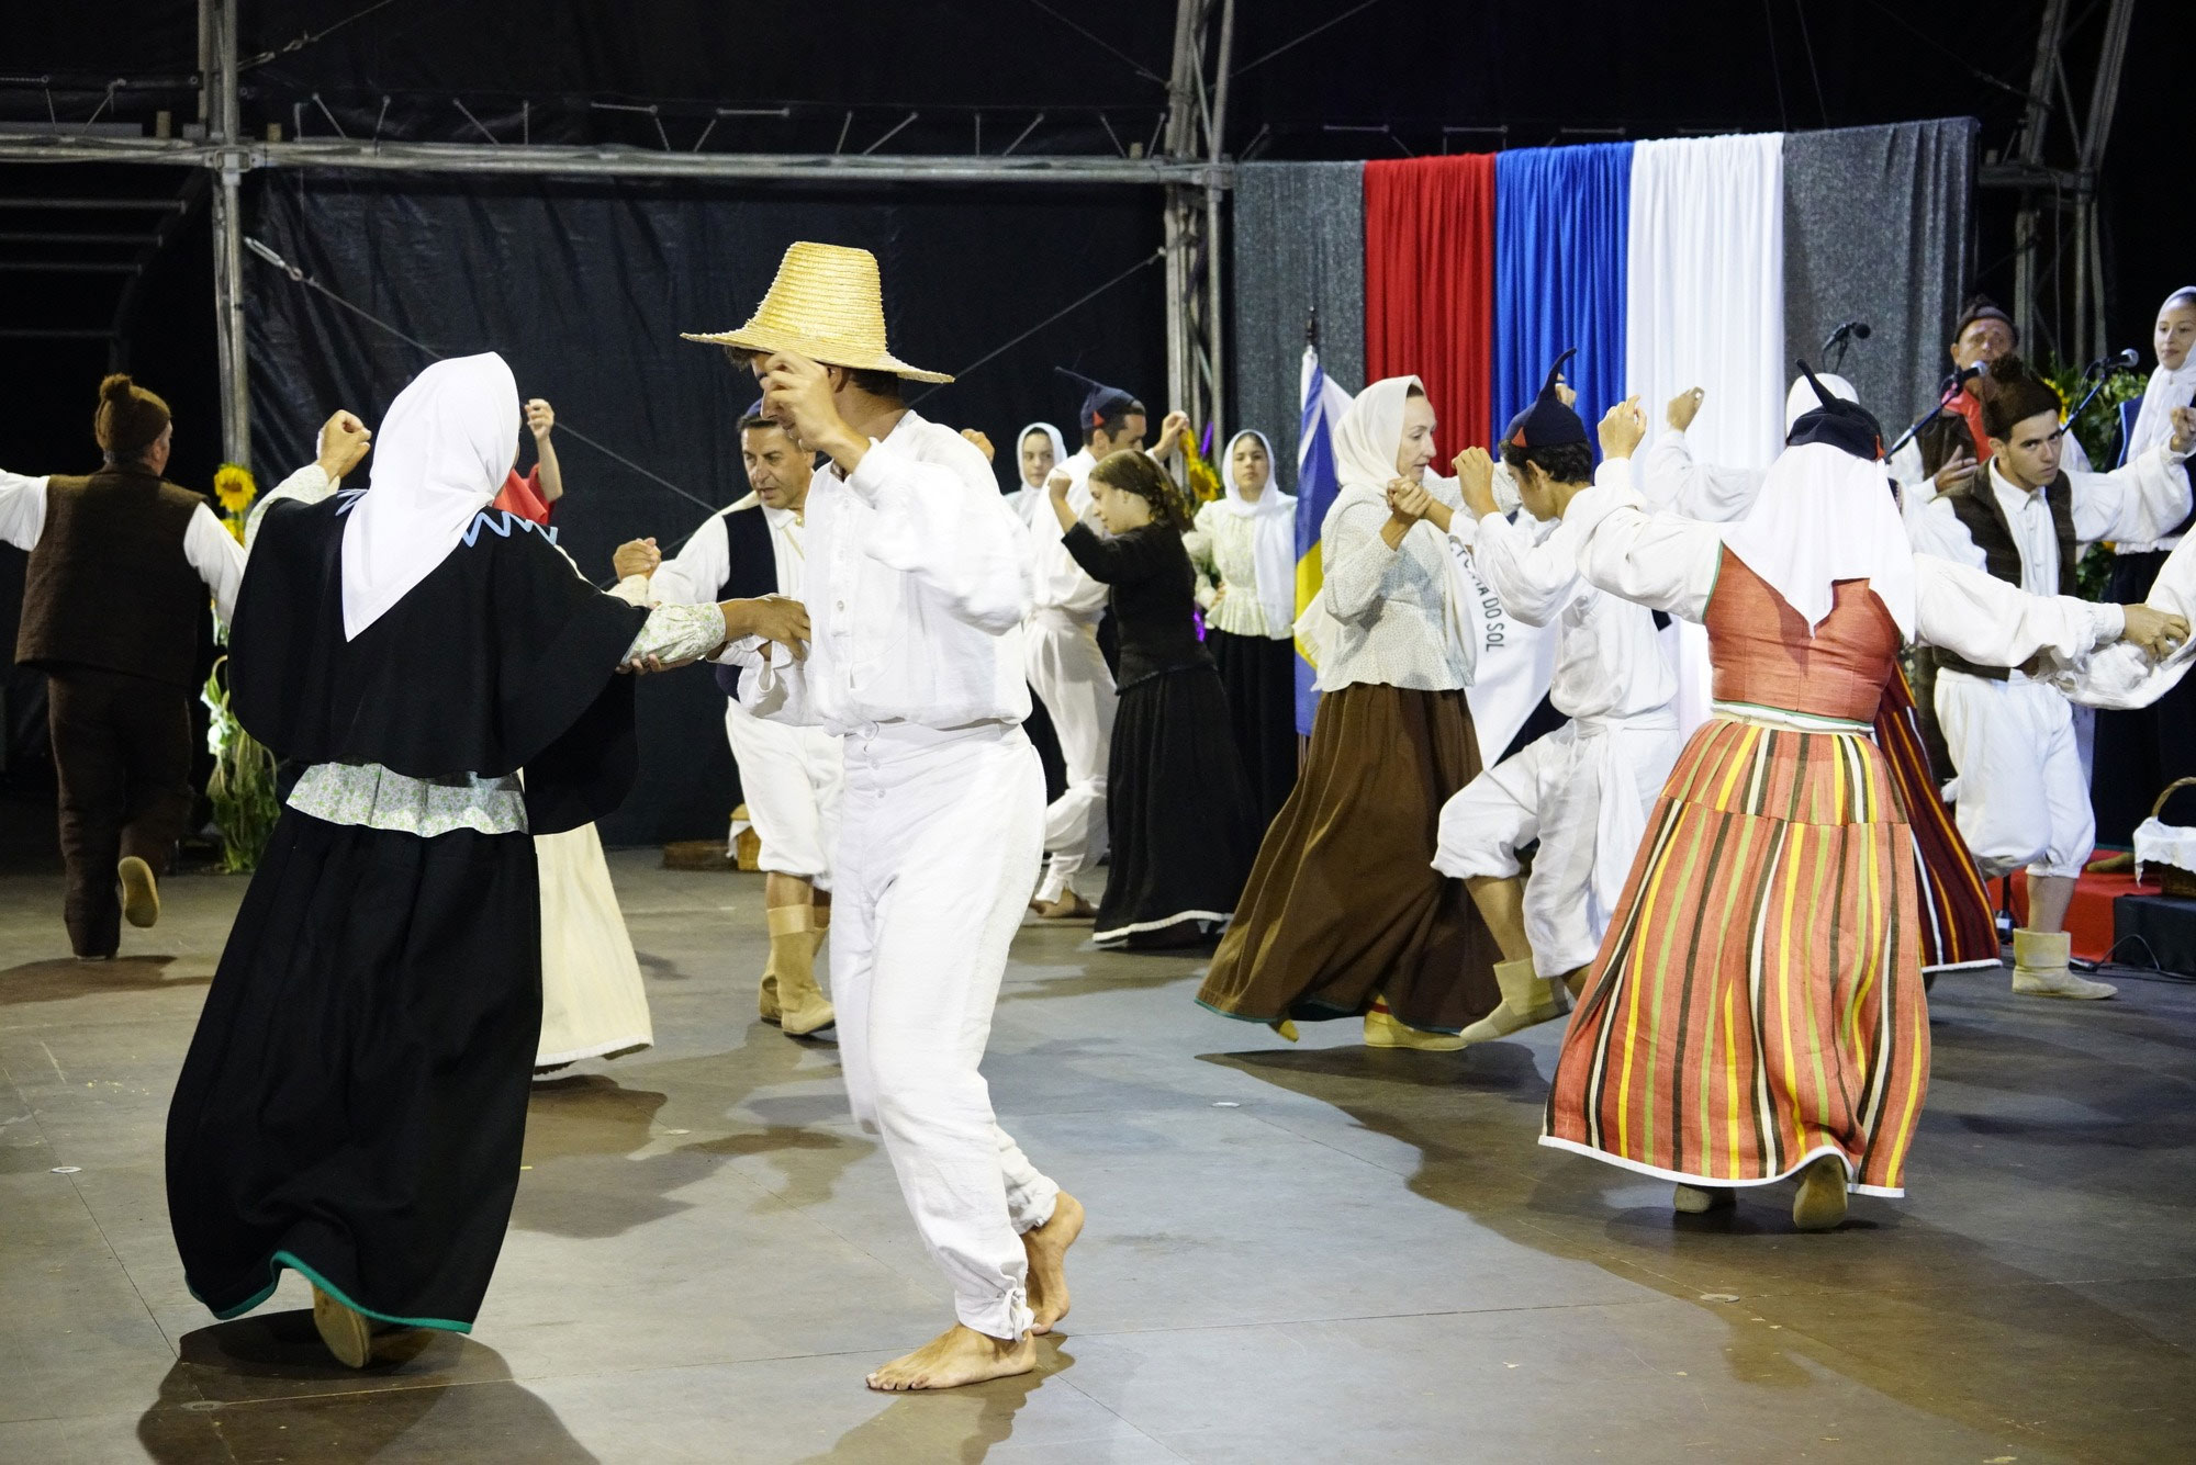
[[[1091,939],[1129,947],[1206,939],[1243,895],[1261,827],[1212,667],[1131,682],[1113,715],[1113,871]]]

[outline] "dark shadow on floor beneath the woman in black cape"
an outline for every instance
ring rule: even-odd
[[[395,1333],[376,1342],[373,1364],[351,1371],[321,1347],[310,1311],[182,1338],[160,1397],[138,1417],[138,1443],[163,1465],[195,1465],[209,1458],[209,1436],[211,1454],[239,1461],[595,1461],[494,1349],[457,1333]]]

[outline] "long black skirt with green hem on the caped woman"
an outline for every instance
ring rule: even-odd
[[[538,1035],[529,836],[285,809],[167,1114],[191,1294],[233,1318],[288,1265],[369,1318],[470,1331]]]

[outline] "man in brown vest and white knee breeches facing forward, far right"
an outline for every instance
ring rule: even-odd
[[[2196,412],[2174,412],[2172,441],[2135,463],[2088,474],[2060,463],[2069,441],[2060,399],[2020,357],[1990,366],[1983,397],[1990,463],[1926,513],[1952,515],[1930,540],[2031,594],[2073,594],[2075,566],[2097,540],[2154,540],[2189,511],[2181,469]],[[1974,667],[1937,651],[1937,717],[1959,779],[1959,831],[1983,875],[2027,866],[2029,923],[2014,932],[2014,991],[2108,998],[2113,987],[2066,969],[2066,906],[2097,822],[2066,697],[2020,671]]]

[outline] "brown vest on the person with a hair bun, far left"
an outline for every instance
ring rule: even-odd
[[[206,583],[182,555],[204,504],[134,463],[46,482],[46,529],[22,588],[15,660],[99,667],[189,689]]]

